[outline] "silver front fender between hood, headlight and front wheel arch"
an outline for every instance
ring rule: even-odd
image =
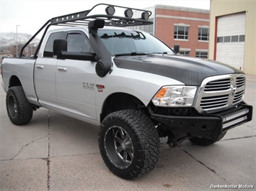
[[[112,67],[112,73],[97,78],[96,85],[104,85],[96,93],[97,116],[100,117],[105,99],[113,93],[127,93],[148,106],[153,96],[164,85],[184,85],[180,81],[161,75]]]

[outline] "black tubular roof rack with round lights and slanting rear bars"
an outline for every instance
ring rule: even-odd
[[[91,12],[99,8],[100,6],[105,6],[105,13],[103,14],[91,14]],[[115,9],[123,9],[124,17],[115,15]],[[133,18],[133,11],[137,13],[141,13],[140,18]],[[43,29],[45,32],[43,33],[42,38],[38,44],[37,50],[35,51],[34,58],[37,55],[37,52],[40,49],[40,45],[43,42],[43,38],[45,37],[46,32],[48,31],[50,26],[64,26],[64,27],[75,27],[75,26],[88,26],[89,22],[94,19],[103,19],[105,20],[105,26],[112,26],[112,27],[133,27],[133,26],[140,26],[140,25],[149,25],[153,24],[153,22],[149,21],[149,17],[151,16],[151,11],[147,11],[144,9],[133,9],[126,6],[117,6],[112,4],[97,4],[87,11],[80,11],[73,14],[66,14],[59,17],[53,17],[49,19],[43,27],[41,27],[22,47],[20,51],[19,57],[22,57],[22,53],[25,50],[25,47],[32,42],[32,40],[39,34]]]

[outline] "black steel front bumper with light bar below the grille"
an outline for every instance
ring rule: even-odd
[[[186,132],[190,136],[211,139],[226,131],[252,120],[252,106],[241,103],[231,108],[207,116],[167,116],[151,113],[151,118],[164,124],[169,131]]]

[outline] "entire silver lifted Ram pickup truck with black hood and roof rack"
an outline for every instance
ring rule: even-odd
[[[91,14],[95,7],[104,14]],[[125,16],[115,16],[115,9]],[[141,18],[133,18],[133,11]],[[6,109],[15,125],[44,107],[100,126],[102,158],[131,180],[154,169],[159,137],[208,145],[252,119],[245,75],[212,60],[177,55],[146,32],[150,11],[98,4],[50,19],[33,57],[4,58]],[[48,30],[49,27],[53,30]],[[66,26],[58,28],[56,26]],[[126,28],[125,28],[126,27]]]

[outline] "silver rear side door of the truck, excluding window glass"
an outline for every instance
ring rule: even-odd
[[[55,83],[57,60],[53,58],[53,41],[64,37],[65,32],[50,34],[42,56],[35,62],[35,91],[38,102],[45,108],[58,107]]]

